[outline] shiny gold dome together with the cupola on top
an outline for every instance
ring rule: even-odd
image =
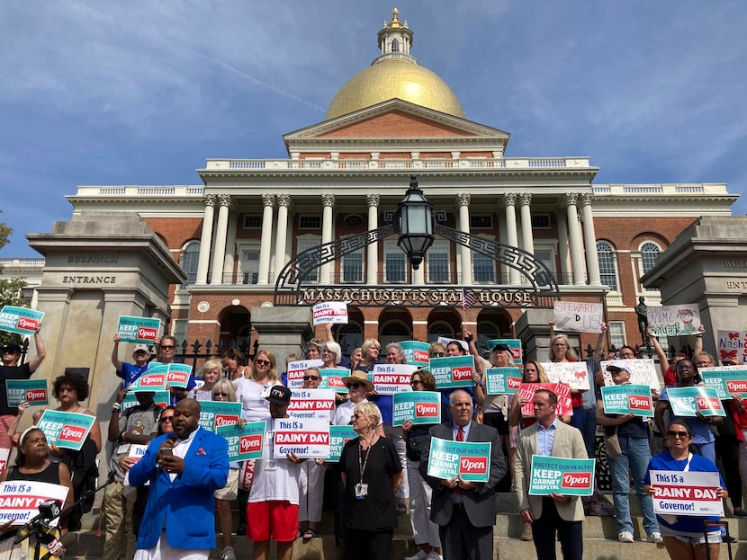
[[[462,103],[448,84],[410,55],[413,33],[399,14],[394,8],[392,21],[378,33],[381,55],[339,89],[325,120],[395,98],[464,119]]]

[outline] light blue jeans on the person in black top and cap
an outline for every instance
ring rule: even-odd
[[[641,512],[644,514],[644,529],[647,535],[659,531],[659,524],[653,514],[653,500],[644,493],[644,476],[651,460],[651,449],[646,438],[619,438],[623,454],[609,459],[609,473],[612,476],[612,497],[615,502],[617,530],[633,532],[633,521],[630,519],[630,476],[638,494]]]

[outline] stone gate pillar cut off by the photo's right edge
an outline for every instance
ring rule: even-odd
[[[641,282],[661,290],[664,306],[698,304],[706,327],[703,349],[718,360],[718,331],[747,330],[747,217],[699,218],[659,255]]]

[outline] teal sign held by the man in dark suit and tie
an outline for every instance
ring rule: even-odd
[[[428,476],[446,480],[461,476],[468,482],[488,482],[491,476],[491,442],[431,438]]]

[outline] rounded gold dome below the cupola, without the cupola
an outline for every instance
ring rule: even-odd
[[[383,60],[356,74],[343,85],[325,120],[398,98],[464,119],[462,103],[444,80],[408,60]]]

